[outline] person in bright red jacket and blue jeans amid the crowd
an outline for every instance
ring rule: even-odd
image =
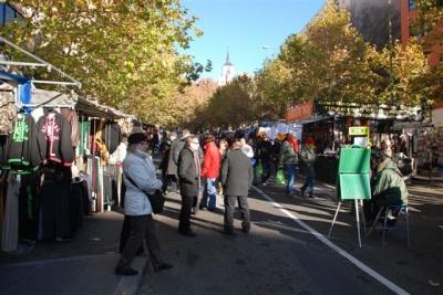
[[[215,144],[214,135],[209,134],[205,137],[205,158],[203,160],[202,177],[206,181],[199,209],[207,208],[212,212],[216,210],[216,181],[220,172],[220,151]]]

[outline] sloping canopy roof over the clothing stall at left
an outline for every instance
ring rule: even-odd
[[[101,105],[91,98],[78,96],[75,93],[63,94],[54,91],[34,89],[32,92],[32,107],[71,107],[81,115],[107,119],[135,118],[116,108]]]

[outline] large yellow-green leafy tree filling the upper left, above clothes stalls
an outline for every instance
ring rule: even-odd
[[[204,70],[177,51],[202,33],[179,0],[11,3],[24,22],[4,28],[4,35],[81,81],[81,94],[145,120],[171,122],[171,97]]]

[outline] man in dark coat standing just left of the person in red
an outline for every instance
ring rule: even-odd
[[[200,160],[198,157],[198,139],[188,136],[186,146],[178,157],[178,178],[182,193],[182,210],[179,214],[178,232],[186,236],[195,236],[190,230],[190,211],[194,199],[200,187]]]

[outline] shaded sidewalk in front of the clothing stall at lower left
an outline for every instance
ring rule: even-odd
[[[136,294],[147,256],[133,262],[138,275],[114,274],[122,222],[120,213],[97,213],[84,219],[70,242],[1,253],[0,294]]]

